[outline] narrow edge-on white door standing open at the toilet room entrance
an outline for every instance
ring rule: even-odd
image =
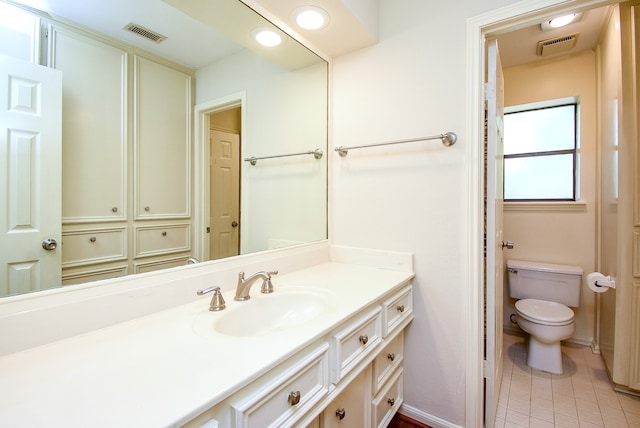
[[[487,51],[487,266],[485,345],[485,426],[493,427],[502,382],[502,258],[504,84],[498,43]]]

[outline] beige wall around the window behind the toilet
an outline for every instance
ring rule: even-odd
[[[578,205],[560,208],[552,204],[505,204],[504,236],[515,242],[509,258],[580,266],[584,271],[580,306],[574,309],[576,331],[573,340],[591,344],[594,338],[595,294],[584,279],[595,270],[596,255],[596,153],[597,98],[596,56],[593,51],[546,60],[504,70],[505,106],[528,104],[567,97],[580,98]],[[531,207],[531,205],[529,205]],[[517,329],[509,321],[515,313],[515,300],[509,297],[505,276],[504,325]]]

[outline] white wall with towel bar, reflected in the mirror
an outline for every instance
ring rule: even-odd
[[[324,149],[326,90],[324,64],[288,71],[250,51],[196,72],[196,104],[246,93],[243,159]],[[242,162],[242,254],[270,239],[326,238],[326,162],[326,153]]]

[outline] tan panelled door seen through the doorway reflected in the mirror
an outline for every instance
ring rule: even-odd
[[[211,260],[237,256],[240,242],[240,136],[212,129]]]

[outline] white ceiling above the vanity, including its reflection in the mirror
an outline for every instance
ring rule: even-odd
[[[165,57],[190,68],[200,68],[245,47],[251,29],[243,27],[250,9],[236,0],[5,0],[47,12],[54,18],[92,28],[111,38]],[[329,57],[376,43],[378,0],[253,0],[248,3],[270,11],[276,23],[292,30]],[[331,16],[328,27],[310,32],[292,23],[291,13],[313,3]],[[364,10],[363,10],[364,9]],[[374,12],[372,12],[372,10]],[[242,15],[242,16],[240,16]],[[375,20],[368,19],[375,15]],[[374,21],[370,23],[370,21]],[[166,36],[159,44],[122,28],[133,22]],[[269,23],[265,20],[266,25]],[[196,42],[194,42],[196,40]],[[294,45],[290,43],[289,45]],[[283,44],[286,48],[286,44]],[[264,52],[263,52],[264,54]],[[277,55],[272,49],[267,56]]]

